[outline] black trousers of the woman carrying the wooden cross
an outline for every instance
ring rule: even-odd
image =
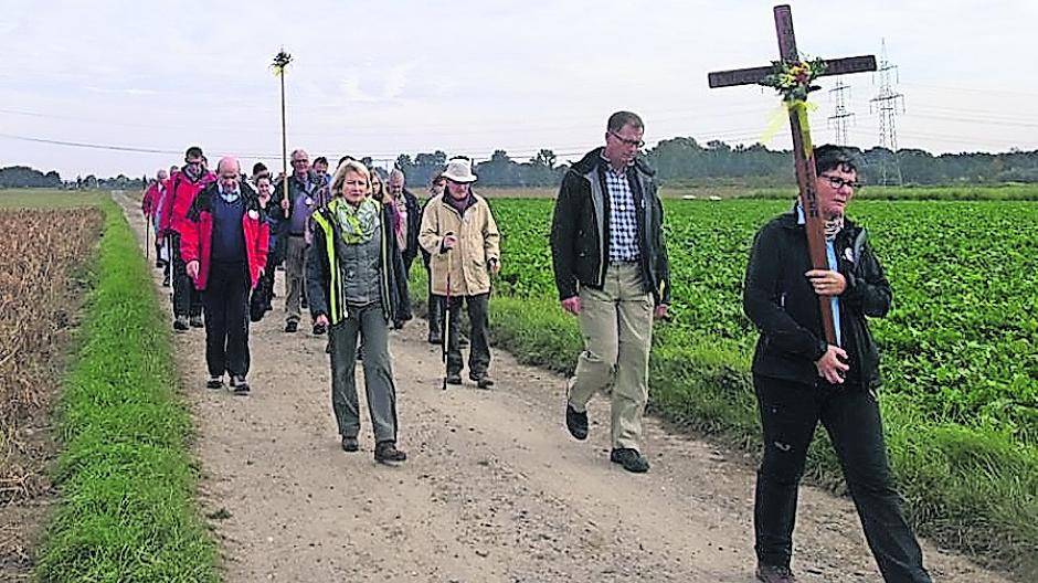
[[[807,446],[820,421],[829,434],[861,519],[865,538],[888,583],[930,583],[922,551],[893,489],[879,404],[859,386],[801,384],[753,375],[764,458],[756,479],[754,527],[762,563],[788,565],[796,494]]]

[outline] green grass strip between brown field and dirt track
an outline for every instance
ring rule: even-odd
[[[218,581],[194,506],[191,421],[178,398],[168,326],[119,208],[105,232],[59,407],[61,502],[40,581]]]

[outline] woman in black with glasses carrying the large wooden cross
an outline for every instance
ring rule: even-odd
[[[890,284],[865,229],[844,218],[858,186],[852,158],[822,146],[815,168],[829,268],[812,267],[799,205],[761,229],[746,266],[743,308],[761,330],[753,357],[764,431],[754,509],[758,580],[794,581],[796,492],[820,421],[883,579],[929,583],[890,478],[876,400],[879,357],[866,317],[887,315]],[[836,344],[825,340],[819,296],[833,307]]]

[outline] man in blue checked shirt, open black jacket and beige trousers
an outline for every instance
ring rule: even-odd
[[[587,437],[586,405],[612,396],[610,459],[648,470],[642,416],[648,401],[653,319],[670,303],[664,212],[653,171],[637,159],[642,118],[613,114],[605,147],[589,152],[562,180],[551,225],[551,257],[562,308],[579,316],[584,351],[568,384],[565,423]]]

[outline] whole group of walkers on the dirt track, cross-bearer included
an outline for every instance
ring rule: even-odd
[[[565,172],[550,236],[560,305],[576,316],[584,343],[566,383],[563,423],[586,439],[587,403],[605,395],[610,459],[632,473],[649,469],[642,421],[652,336],[672,290],[664,206],[653,170],[637,157],[643,132],[636,114],[610,117],[604,146]],[[885,316],[892,293],[866,231],[845,218],[859,187],[855,159],[822,146],[814,163],[829,268],[812,267],[797,203],[758,233],[744,282],[743,308],[761,331],[752,364],[764,443],[756,577],[795,581],[797,489],[820,422],[885,580],[929,582],[893,489],[876,393],[879,360],[867,318]],[[274,272],[284,265],[285,332],[297,331],[308,308],[313,333],[328,335],[342,449],[359,451],[354,371],[361,360],[374,458],[404,462],[389,343],[390,330],[412,319],[407,282],[419,254],[427,269],[428,340],[444,350],[444,386],[462,384],[463,305],[469,380],[494,385],[488,311],[502,264],[490,205],[473,191],[477,177],[464,157],[433,179],[424,205],[399,169],[383,183],[378,169],[343,157],[329,174],[325,158],[311,165],[304,150],[293,152],[292,166],[289,176],[273,180],[257,163],[246,179],[227,157],[212,173],[192,147],[182,168],[158,172],[142,208],[157,234],[157,266],[173,288],[173,328],[204,326],[206,386],[221,389],[226,377],[233,392],[247,394],[248,324],[272,309]],[[819,297],[830,298],[835,344],[823,333]]]

